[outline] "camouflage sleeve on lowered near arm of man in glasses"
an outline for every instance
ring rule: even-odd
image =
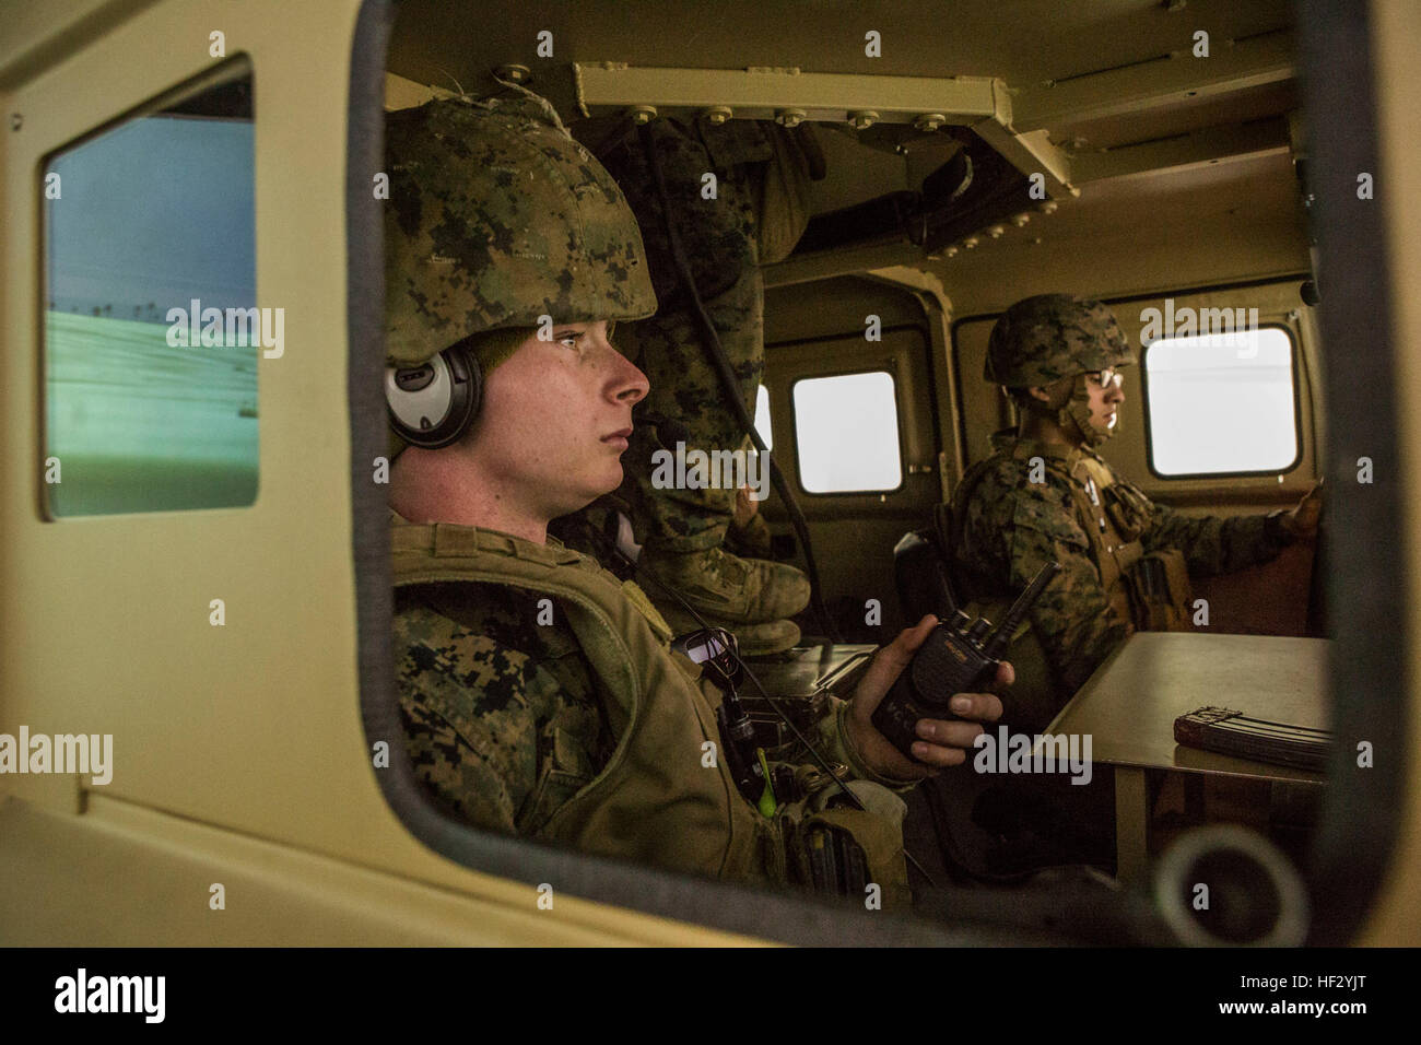
[[[1066,495],[1069,498],[1069,493]],[[1073,694],[1127,636],[1100,583],[1090,543],[1074,515],[1023,496],[1010,530],[1010,587],[1020,591],[1049,562],[1060,573],[1032,609],[1032,627],[1061,694]]]

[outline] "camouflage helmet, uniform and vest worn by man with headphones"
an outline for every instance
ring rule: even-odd
[[[399,380],[455,344],[487,371],[516,348],[503,331],[541,316],[635,320],[655,309],[630,209],[543,100],[513,90],[431,102],[392,114],[387,129],[392,418],[402,421],[396,397],[408,391]],[[406,749],[450,813],[585,852],[776,883],[809,881],[809,833],[843,830],[884,876],[885,897],[905,884],[902,803],[885,791],[901,782],[875,779],[853,751],[847,704],[830,705],[818,734],[826,756],[860,778],[865,809],[830,808],[834,789],[818,786],[772,819],[745,802],[725,761],[703,761],[708,744],[718,746],[715,701],[696,667],[668,650],[671,630],[635,584],[556,540],[392,522]]]

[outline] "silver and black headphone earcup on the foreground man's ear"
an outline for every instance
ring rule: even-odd
[[[456,442],[479,415],[483,371],[465,341],[418,367],[385,367],[389,427],[411,446]]]

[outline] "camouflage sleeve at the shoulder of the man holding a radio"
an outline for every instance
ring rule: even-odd
[[[553,687],[526,654],[431,610],[396,618],[396,677],[415,775],[479,827],[536,829],[522,810],[539,781],[539,691]]]

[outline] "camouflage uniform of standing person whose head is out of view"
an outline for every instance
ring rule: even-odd
[[[783,259],[809,220],[806,154],[783,128],[752,121],[685,127],[658,119],[637,128],[614,118],[581,124],[578,131],[621,185],[647,245],[659,309],[618,331],[622,351],[651,382],[647,412],[684,424],[688,452],[740,448],[745,432],[703,344],[695,303],[678,273],[668,220],[739,382],[742,405],[753,415],[764,371],[759,266],[764,252],[769,260]],[[648,142],[664,179],[665,203]],[[709,193],[708,175],[715,176],[713,198],[703,195]],[[789,617],[809,603],[807,577],[783,563],[726,554],[735,491],[658,488],[655,455],[675,448],[662,446],[655,428],[645,424],[635,427],[630,442],[622,458],[622,496],[642,545],[637,577],[657,607],[676,630],[696,627],[679,600],[666,594],[665,587],[671,587],[709,623],[733,628],[750,655],[793,647],[800,633]]]

